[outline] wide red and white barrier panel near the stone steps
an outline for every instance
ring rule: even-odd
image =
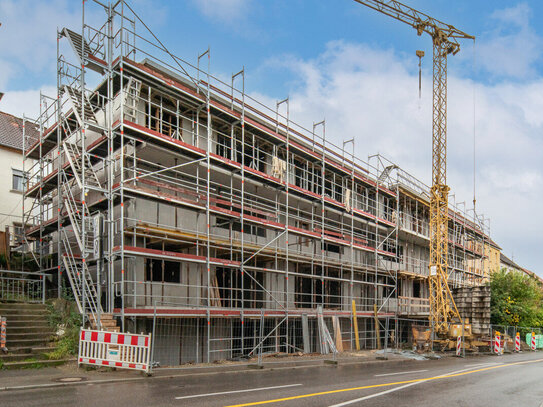
[[[78,364],[141,370],[148,373],[151,334],[135,335],[81,329]]]

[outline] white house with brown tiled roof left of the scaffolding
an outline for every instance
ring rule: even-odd
[[[39,132],[27,126],[38,138]],[[22,242],[23,190],[26,183],[23,171],[23,119],[0,112],[0,253],[6,245],[11,250]],[[30,201],[29,201],[30,202]]]

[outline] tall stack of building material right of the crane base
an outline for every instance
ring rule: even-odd
[[[460,316],[469,318],[474,335],[490,335],[490,287],[461,287],[452,290]]]

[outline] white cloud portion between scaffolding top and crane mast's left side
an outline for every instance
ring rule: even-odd
[[[326,117],[329,141],[341,144],[354,136],[360,157],[381,152],[406,167],[412,164],[418,174],[430,169],[429,144],[421,150],[426,161],[415,160],[410,151],[430,140],[431,84],[425,78],[419,103],[418,79],[409,75],[408,61],[392,51],[341,41],[329,43],[315,60],[283,56],[267,65],[273,69],[281,61],[296,75],[290,95],[294,121],[310,128]]]

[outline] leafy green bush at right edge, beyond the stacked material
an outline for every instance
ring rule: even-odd
[[[543,288],[533,277],[502,269],[490,277],[491,322],[543,327]]]

